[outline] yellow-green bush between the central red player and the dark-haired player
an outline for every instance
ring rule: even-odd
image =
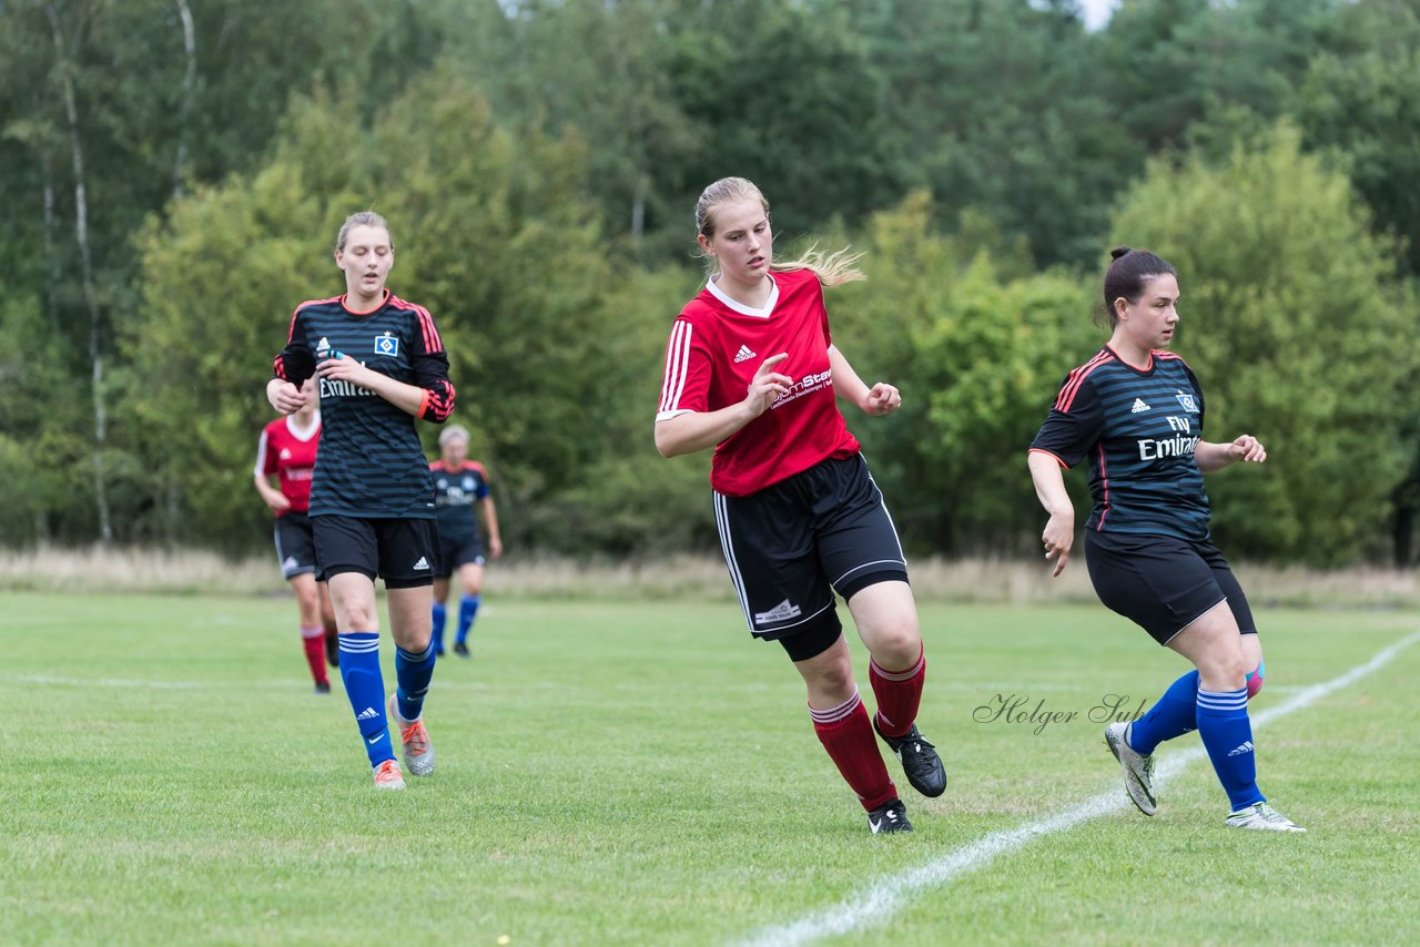
[[[988,236],[937,236],[926,195],[875,216],[869,234],[868,284],[829,301],[835,342],[865,381],[896,383],[903,407],[849,423],[910,545],[1015,552],[1039,521],[1025,447],[1099,338],[1088,291],[1065,273],[1025,274]]]

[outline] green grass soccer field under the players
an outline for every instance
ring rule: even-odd
[[[1261,612],[1254,713],[1302,701],[1257,740],[1291,836],[1224,829],[1206,760],[1152,821],[1051,828],[1122,798],[1088,711],[1152,700],[1180,662],[1099,606],[926,606],[920,724],[950,785],[922,799],[889,761],[917,831],[878,838],[733,605],[494,599],[474,659],[435,676],[437,772],[378,795],[294,615],[0,593],[0,941],[1420,943],[1420,643],[1302,690],[1413,612]],[[973,718],[1012,696],[1078,716]]]

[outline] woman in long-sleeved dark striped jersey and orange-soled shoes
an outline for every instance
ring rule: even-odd
[[[399,724],[409,771],[429,775],[435,765],[422,714],[435,669],[429,613],[439,551],[415,419],[443,423],[454,398],[449,356],[429,311],[385,288],[393,263],[385,219],[351,214],[335,241],[345,294],[297,307],[267,383],[271,405],[285,413],[305,405],[307,378],[315,375],[320,383],[324,430],[311,478],[315,561],[335,606],[345,693],[381,789],[403,789],[405,779],[385,713],[376,576],[385,581],[396,646],[389,716]]]

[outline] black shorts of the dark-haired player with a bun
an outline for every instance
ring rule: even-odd
[[[1238,630],[1257,635],[1242,586],[1208,541],[1086,530],[1085,564],[1099,601],[1160,645],[1223,602]]]

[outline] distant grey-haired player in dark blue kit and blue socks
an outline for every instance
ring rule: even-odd
[[[435,653],[443,655],[443,629],[447,620],[449,579],[457,574],[463,593],[459,598],[459,625],[454,630],[453,653],[469,657],[469,630],[479,615],[486,562],[479,518],[473,508],[483,511],[488,530],[488,555],[503,555],[498,531],[498,511],[488,491],[488,471],[477,460],[469,460],[469,430],[463,425],[449,425],[439,432],[439,460],[429,464],[435,481],[435,513],[439,517],[439,568],[435,571]]]

